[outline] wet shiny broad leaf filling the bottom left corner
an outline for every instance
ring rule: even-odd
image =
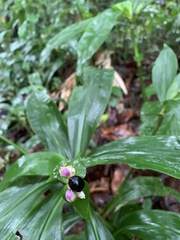
[[[37,183],[22,187],[11,187],[0,193],[0,226],[1,236],[9,236],[19,230],[20,225],[28,216],[33,207],[38,204],[40,196],[51,184]]]

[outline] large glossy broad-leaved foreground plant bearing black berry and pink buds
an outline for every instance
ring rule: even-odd
[[[172,54],[167,46],[163,51]],[[155,76],[159,69],[160,80],[156,82],[153,77],[153,84],[161,106],[167,100],[164,96],[180,101],[177,94],[172,94],[173,89],[177,90],[173,88],[177,84],[176,73],[168,77],[168,85],[161,81],[167,57],[165,54],[163,60],[163,51],[153,70]],[[177,66],[175,69],[177,72]],[[145,201],[169,194],[180,200],[180,193],[164,186],[157,177],[127,179],[104,209],[99,210],[90,200],[84,178],[86,169],[96,165],[125,163],[180,178],[180,137],[175,133],[119,139],[92,151],[88,149],[108,104],[113,78],[113,70],[84,68],[83,84],[73,89],[67,120],[45,89],[35,90],[28,97],[27,118],[45,151],[23,152],[0,183],[2,240],[15,240],[18,236],[26,240],[126,240],[135,236],[145,240],[179,239],[180,215],[137,204],[139,198]],[[70,234],[79,221],[84,224],[82,231]]]

